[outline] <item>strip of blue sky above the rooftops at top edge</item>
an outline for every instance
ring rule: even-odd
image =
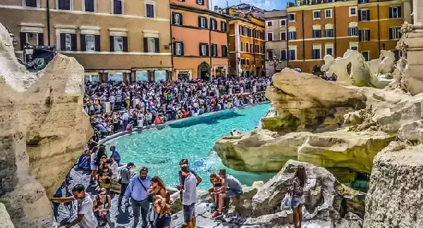
[[[219,6],[221,8],[226,7],[226,2],[228,2],[228,6],[234,6],[241,3],[243,4],[250,4],[252,6],[257,6],[258,8],[262,8],[265,10],[273,10],[273,9],[284,9],[286,8],[286,0],[209,0],[210,4],[213,6]],[[210,7],[211,9],[213,7]]]

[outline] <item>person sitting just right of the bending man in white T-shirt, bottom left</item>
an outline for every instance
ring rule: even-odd
[[[99,195],[97,199],[94,200],[92,205],[92,211],[94,215],[97,217],[99,222],[99,227],[104,227],[109,224],[110,228],[114,228],[114,222],[110,220],[110,206],[111,206],[111,197],[107,194],[106,189],[102,188],[99,191]]]

